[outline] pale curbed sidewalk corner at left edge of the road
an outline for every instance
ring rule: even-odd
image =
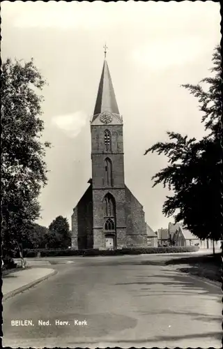
[[[56,274],[57,271],[54,269],[46,268],[35,268],[35,269],[24,269],[20,271],[15,271],[2,279],[1,292],[3,294],[3,301],[6,299],[17,295],[28,288],[48,279],[49,276]]]

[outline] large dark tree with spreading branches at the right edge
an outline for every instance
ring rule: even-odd
[[[167,132],[168,142],[157,142],[146,150],[168,158],[166,168],[157,172],[153,186],[163,184],[173,192],[167,196],[162,212],[174,215],[175,223],[200,239],[222,239],[222,80],[220,46],[213,53],[215,76],[206,77],[197,85],[182,85],[198,98],[201,122],[206,135],[201,140],[180,133]],[[205,84],[204,87],[201,84]],[[208,89],[206,91],[206,86]]]

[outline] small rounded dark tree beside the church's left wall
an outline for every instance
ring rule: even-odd
[[[49,234],[54,237],[58,248],[68,248],[71,242],[68,219],[63,216],[56,217],[49,225]]]

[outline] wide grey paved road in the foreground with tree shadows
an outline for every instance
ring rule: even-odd
[[[176,273],[163,265],[166,258],[69,258],[73,263],[52,265],[58,274],[3,303],[3,346],[221,348],[220,288]]]

